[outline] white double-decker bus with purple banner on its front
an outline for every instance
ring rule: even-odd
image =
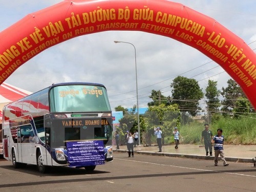
[[[52,84],[4,107],[4,158],[41,173],[49,166],[94,170],[113,160],[112,122],[102,84]]]

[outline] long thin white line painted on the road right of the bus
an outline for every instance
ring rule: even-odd
[[[191,168],[191,167],[182,167],[182,166],[176,166],[176,165],[166,165],[166,164],[160,164],[160,163],[151,163],[151,162],[144,162],[144,161],[135,161],[135,160],[127,160],[127,159],[118,159],[115,158],[116,160],[121,160],[121,161],[132,161],[132,162],[137,162],[137,163],[145,163],[145,164],[153,164],[153,165],[163,165],[163,166],[170,166],[170,167],[177,167],[177,168],[184,168],[184,169],[191,169],[191,170],[202,170],[206,172],[215,172],[215,173],[225,173],[225,174],[231,174],[231,175],[239,175],[239,176],[246,176],[246,177],[256,177],[254,175],[245,175],[245,174],[238,174],[238,173],[229,173],[229,172],[223,172],[223,171],[218,171],[218,170],[208,170],[208,169],[201,169],[201,168]]]

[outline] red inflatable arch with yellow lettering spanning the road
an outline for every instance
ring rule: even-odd
[[[60,42],[110,30],[143,31],[196,48],[241,86],[256,109],[256,56],[216,20],[163,0],[66,0],[0,33],[0,84],[26,61]]]

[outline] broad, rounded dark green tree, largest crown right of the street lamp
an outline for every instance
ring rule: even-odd
[[[199,100],[204,94],[196,79],[189,79],[178,76],[170,84],[172,90],[172,104],[177,103],[180,111],[185,116],[186,113],[195,116],[199,110]]]

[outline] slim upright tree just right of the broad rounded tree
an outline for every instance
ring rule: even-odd
[[[211,122],[212,116],[219,113],[220,103],[220,91],[217,89],[217,81],[208,80],[208,86],[205,89],[206,108],[209,122]]]

